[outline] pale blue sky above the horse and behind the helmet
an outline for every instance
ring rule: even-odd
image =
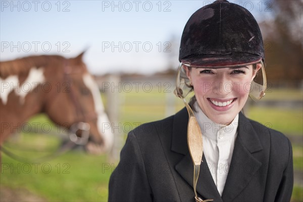
[[[178,65],[188,18],[213,1],[0,1],[0,59],[84,55],[90,72],[153,73]],[[230,1],[262,21],[269,1]],[[172,38],[175,43],[172,43]]]

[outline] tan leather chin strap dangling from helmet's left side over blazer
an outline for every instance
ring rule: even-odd
[[[185,93],[186,91],[184,91],[184,88],[189,88],[189,87],[185,82],[184,74],[181,75],[181,71],[182,71],[182,63],[180,64],[180,67],[178,69],[176,89],[174,93],[177,97],[179,97],[183,101],[189,116],[188,125],[187,125],[187,145],[193,163],[193,191],[195,194],[194,198],[196,202],[213,201],[213,199],[205,199],[205,200],[201,199],[200,197],[198,197],[196,191],[196,185],[199,177],[200,165],[203,156],[203,139],[202,139],[202,132],[198,125],[197,119],[194,116],[194,113],[190,108],[189,104],[185,100],[185,97],[192,91],[192,89],[190,89],[187,93]],[[183,90],[181,88],[183,88]]]

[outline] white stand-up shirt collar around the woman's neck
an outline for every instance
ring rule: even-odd
[[[236,115],[236,117],[233,119],[230,125],[226,126],[222,124],[217,124],[213,122],[211,119],[209,119],[205,115],[205,113],[200,109],[197,102],[194,103],[194,108],[196,109],[196,111],[193,111],[193,113],[200,126],[201,132],[207,138],[216,141],[225,141],[230,138],[233,138],[233,136],[236,135],[238,128],[239,114]]]

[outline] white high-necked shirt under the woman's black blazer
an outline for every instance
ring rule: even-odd
[[[230,125],[219,125],[203,113],[197,102],[194,107],[194,115],[203,134],[203,154],[222,196],[237,136],[239,115],[236,115]]]

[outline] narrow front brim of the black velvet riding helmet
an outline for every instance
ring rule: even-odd
[[[245,66],[259,63],[262,57],[248,53],[233,53],[228,55],[194,55],[182,59],[186,66],[196,68],[224,68]]]

